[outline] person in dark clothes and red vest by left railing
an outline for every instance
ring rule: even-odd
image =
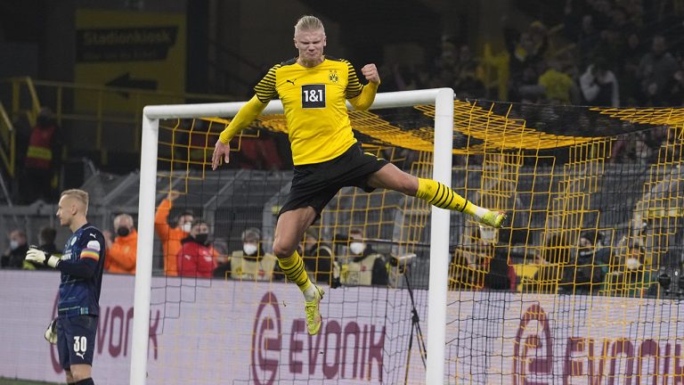
[[[31,203],[37,199],[54,201],[53,177],[60,167],[60,128],[53,118],[53,111],[43,107],[38,112],[36,126],[31,128],[28,151],[24,159],[21,197]]]

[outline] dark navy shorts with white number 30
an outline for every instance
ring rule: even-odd
[[[74,315],[57,320],[57,353],[60,365],[93,365],[97,315]]]

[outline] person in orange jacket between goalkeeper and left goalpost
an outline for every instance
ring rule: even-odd
[[[110,273],[135,274],[135,260],[138,254],[138,233],[135,231],[133,217],[119,214],[114,217],[114,230],[117,238],[111,241],[111,233],[104,233],[107,258],[104,269]]]

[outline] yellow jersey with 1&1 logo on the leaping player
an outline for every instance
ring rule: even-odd
[[[346,100],[363,87],[349,61],[326,57],[313,68],[296,59],[276,64],[254,90],[260,102],[281,99],[298,166],[334,159],[356,143]]]

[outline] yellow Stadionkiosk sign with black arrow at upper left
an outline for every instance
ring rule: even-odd
[[[114,86],[182,94],[185,89],[185,15],[77,10],[75,81],[79,85]],[[79,111],[135,112],[159,102],[130,93],[76,94]]]

